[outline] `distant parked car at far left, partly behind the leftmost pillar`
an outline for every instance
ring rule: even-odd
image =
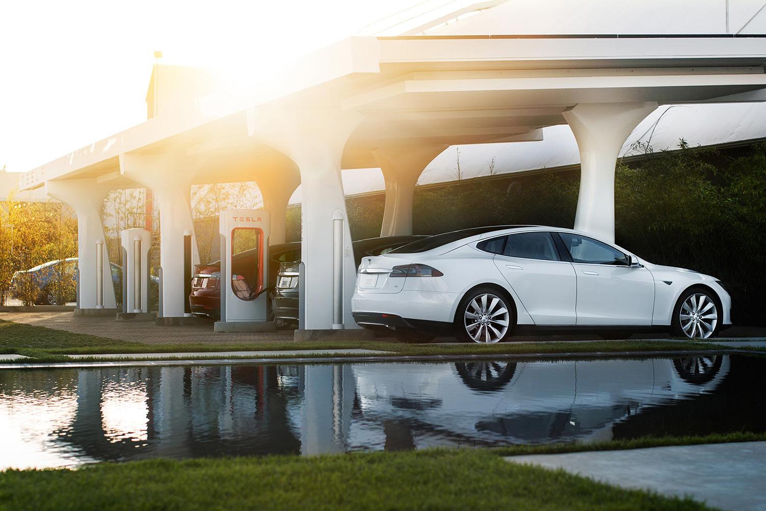
[[[118,293],[121,286],[122,267],[119,264],[110,263],[112,283],[115,292]],[[38,264],[29,270],[19,270],[11,277],[11,298],[21,299],[21,277],[29,275],[31,282],[38,288],[38,296],[34,300],[35,305],[62,305],[58,303],[58,298],[51,284],[60,278],[71,280],[70,296],[64,296],[64,303],[77,300],[76,296],[76,276],[77,276],[77,257],[67,257],[61,260],[49,260],[47,263]],[[152,277],[156,279],[156,277]]]

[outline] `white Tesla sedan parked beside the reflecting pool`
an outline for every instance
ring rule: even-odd
[[[506,225],[438,234],[364,257],[353,316],[423,342],[447,329],[498,342],[529,329],[707,339],[731,324],[719,280],[660,266],[571,229]]]

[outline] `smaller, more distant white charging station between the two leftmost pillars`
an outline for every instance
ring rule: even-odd
[[[123,247],[123,313],[149,313],[149,249],[152,233],[126,229],[119,234]]]

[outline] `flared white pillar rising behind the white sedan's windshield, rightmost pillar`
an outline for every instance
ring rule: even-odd
[[[580,149],[575,229],[614,242],[614,168],[630,132],[657,103],[580,103],[564,118]]]

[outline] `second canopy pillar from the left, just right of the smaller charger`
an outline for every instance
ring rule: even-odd
[[[198,162],[175,155],[123,154],[120,172],[152,193],[159,205],[159,265],[162,268],[160,313],[163,318],[185,316],[184,236],[191,234],[191,264],[199,264],[199,251],[191,217],[191,180]]]

